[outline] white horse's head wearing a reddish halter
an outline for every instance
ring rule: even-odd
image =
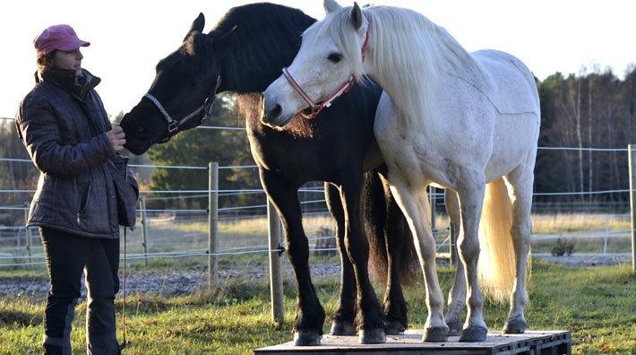
[[[364,74],[361,49],[369,22],[357,4],[343,8],[324,0],[326,17],[303,33],[303,42],[287,72],[263,92],[264,122],[285,126],[298,112],[316,110],[351,80]]]

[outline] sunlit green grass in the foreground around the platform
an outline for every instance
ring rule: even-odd
[[[443,290],[452,271],[440,269]],[[128,354],[251,353],[254,349],[288,342],[296,312],[291,281],[285,284],[285,325],[271,322],[269,288],[262,281],[221,281],[211,294],[162,299],[138,294],[128,299]],[[338,281],[319,280],[316,290],[327,314],[337,306]],[[380,290],[380,289],[376,289]],[[631,267],[572,268],[535,262],[529,284],[529,329],[571,330],[573,353],[636,352],[636,278]],[[407,292],[410,327],[425,323],[422,285]],[[38,353],[42,333],[41,301],[25,297],[0,299],[0,353]],[[121,299],[117,299],[121,309]],[[119,313],[118,313],[119,314]],[[490,329],[503,326],[507,307],[486,301]],[[85,303],[77,307],[73,348],[83,353]],[[324,332],[328,332],[325,324]],[[121,340],[121,333],[119,333]]]

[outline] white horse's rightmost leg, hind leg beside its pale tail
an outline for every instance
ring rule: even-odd
[[[516,262],[514,290],[511,294],[511,307],[503,333],[523,333],[526,331],[524,308],[528,302],[526,292],[526,269],[530,251],[530,208],[532,206],[533,168],[521,165],[506,177],[511,186],[512,202],[512,243]]]

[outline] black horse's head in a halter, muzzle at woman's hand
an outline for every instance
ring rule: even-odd
[[[202,33],[200,13],[184,43],[156,67],[155,80],[142,100],[122,119],[125,148],[146,152],[154,143],[165,143],[177,132],[202,124],[219,89],[218,56],[230,36],[219,39]]]

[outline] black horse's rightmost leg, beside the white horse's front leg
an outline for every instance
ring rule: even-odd
[[[412,243],[408,224],[395,202],[389,184],[382,179],[384,198],[386,201],[386,224],[384,225],[384,238],[386,238],[388,278],[384,292],[384,322],[389,334],[403,333],[408,326],[408,307],[404,299],[400,284],[400,264],[402,257],[416,257],[415,255],[402,255],[406,246]],[[408,254],[408,253],[407,253]]]

